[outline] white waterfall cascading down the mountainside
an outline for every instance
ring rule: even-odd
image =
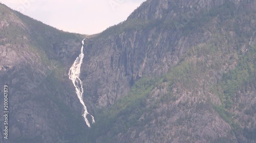
[[[84,44],[84,40],[86,39],[83,39],[82,40],[82,47],[81,47],[81,53],[79,54],[79,56],[76,58],[76,61],[74,62],[74,64],[72,65],[72,67],[70,68],[69,70],[69,79],[72,80],[73,84],[74,84],[74,87],[76,89],[76,94],[77,94],[77,97],[78,99],[80,100],[81,104],[83,105],[83,118],[84,118],[84,121],[86,121],[86,124],[87,126],[90,128],[91,125],[90,125],[90,122],[88,121],[87,119],[87,115],[90,115],[92,117],[92,123],[94,123],[94,117],[87,111],[87,107],[86,105],[84,104],[83,102],[83,88],[82,88],[82,81],[81,79],[79,78],[79,75],[80,75],[80,70],[81,70],[81,65],[82,65],[82,59],[83,59],[83,44]]]

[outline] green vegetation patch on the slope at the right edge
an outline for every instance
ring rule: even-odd
[[[220,116],[231,125],[233,131],[239,134],[238,123],[232,119],[230,109],[236,105],[236,100],[240,98],[242,94],[254,91],[256,89],[256,45],[251,45],[246,53],[239,57],[238,64],[235,69],[230,70],[228,73],[223,74],[222,81],[216,85],[216,91],[222,100],[222,105],[216,106],[216,111]],[[240,104],[239,109],[244,108],[247,115],[253,116],[255,110],[253,107]],[[255,108],[255,107],[254,107]],[[249,139],[256,140],[256,129],[249,131],[247,128],[243,130],[244,135]]]

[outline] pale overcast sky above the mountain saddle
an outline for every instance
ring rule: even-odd
[[[124,21],[146,0],[0,0],[59,30],[96,34]]]

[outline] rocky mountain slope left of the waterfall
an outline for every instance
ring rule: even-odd
[[[82,108],[68,82],[83,36],[58,31],[2,4],[0,13],[1,94],[7,84],[10,104],[5,142],[56,142],[68,130],[77,130],[68,123],[83,125]],[[1,122],[1,142],[3,126]]]

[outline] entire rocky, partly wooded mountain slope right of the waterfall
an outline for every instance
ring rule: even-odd
[[[255,1],[143,3],[95,47],[113,50],[99,80],[120,61],[130,85],[149,79],[99,111],[88,141],[255,142],[255,27]]]

